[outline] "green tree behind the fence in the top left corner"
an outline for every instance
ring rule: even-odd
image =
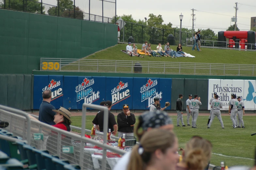
[[[10,2],[10,3],[9,3]],[[24,3],[24,4],[23,4]],[[33,0],[33,1],[23,1],[23,0],[6,0],[5,4],[4,2],[0,2],[0,8],[9,8],[15,9],[19,11],[28,11],[33,13],[41,13],[41,3],[39,0]],[[44,10],[44,6],[42,6],[42,10]],[[45,12],[43,12],[44,14]]]

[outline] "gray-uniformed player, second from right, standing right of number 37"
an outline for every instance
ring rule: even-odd
[[[233,122],[233,128],[237,128],[237,106],[238,106],[238,100],[236,100],[236,95],[231,94],[232,99],[229,101],[229,114],[230,118]]]

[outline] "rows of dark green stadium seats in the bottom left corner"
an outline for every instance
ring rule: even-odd
[[[75,170],[81,169],[77,164],[70,164],[57,156],[50,155],[47,150],[39,150],[24,142],[3,139],[3,136],[19,139],[0,129],[0,170],[38,169],[38,170]],[[16,153],[16,154],[15,154]]]

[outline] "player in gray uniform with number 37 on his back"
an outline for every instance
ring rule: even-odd
[[[211,124],[213,123],[213,119],[215,118],[215,116],[217,116],[222,129],[224,129],[223,121],[221,119],[221,114],[220,114],[220,108],[222,108],[222,102],[219,101],[218,98],[219,98],[219,96],[216,95],[215,100],[212,100],[212,102],[211,102],[212,117],[211,117],[211,120],[209,122],[209,125],[208,125],[207,129],[210,129]]]

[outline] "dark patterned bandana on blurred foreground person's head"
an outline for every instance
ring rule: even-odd
[[[139,116],[142,123],[141,127],[144,131],[148,128],[159,128],[164,125],[172,124],[171,118],[163,111],[145,112]]]

